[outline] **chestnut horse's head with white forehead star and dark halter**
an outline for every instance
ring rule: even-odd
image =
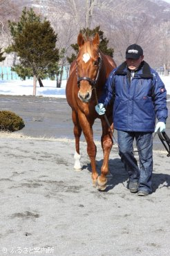
[[[77,85],[79,86],[78,97],[83,102],[91,100],[92,90],[97,82],[101,56],[98,50],[100,37],[96,33],[93,39],[84,39],[81,33],[77,37],[79,53],[77,55]]]

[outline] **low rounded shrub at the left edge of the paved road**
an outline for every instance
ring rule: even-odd
[[[0,130],[18,131],[24,127],[23,119],[10,111],[0,111]]]

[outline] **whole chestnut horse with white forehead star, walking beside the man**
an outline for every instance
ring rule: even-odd
[[[72,118],[75,135],[75,170],[81,170],[79,137],[84,133],[87,143],[87,153],[91,160],[93,185],[98,190],[106,189],[106,174],[108,174],[108,158],[113,145],[111,130],[113,131],[113,105],[106,109],[106,116],[111,125],[108,128],[104,116],[99,116],[95,111],[97,99],[101,97],[106,78],[115,68],[115,62],[107,55],[104,55],[98,48],[100,37],[96,33],[93,39],[84,39],[81,33],[77,37],[79,53],[77,59],[70,66],[70,75],[66,84],[66,99],[72,108]],[[102,149],[104,161],[101,168],[101,175],[96,170],[95,156],[96,146],[93,141],[93,123],[96,118],[102,122]]]

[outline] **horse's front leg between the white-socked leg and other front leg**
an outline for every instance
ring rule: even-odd
[[[97,153],[97,148],[93,140],[93,129],[92,129],[93,122],[94,120],[93,121],[91,120],[91,122],[88,121],[84,113],[79,113],[79,123],[82,127],[82,131],[86,139],[87,154],[91,160],[91,170],[92,170],[91,177],[93,180],[93,186],[96,187],[98,173],[96,170],[95,156]]]

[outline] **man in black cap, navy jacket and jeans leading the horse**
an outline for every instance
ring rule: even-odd
[[[164,131],[168,116],[167,91],[158,73],[144,62],[141,46],[126,49],[126,61],[113,69],[100,104],[95,107],[101,116],[113,97],[113,123],[117,129],[121,160],[129,174],[129,189],[138,196],[152,192],[153,131]],[[155,127],[155,117],[158,124]],[[140,167],[133,154],[136,140]]]

